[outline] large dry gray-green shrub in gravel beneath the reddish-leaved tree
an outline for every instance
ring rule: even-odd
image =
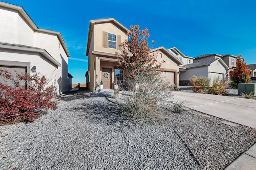
[[[141,72],[128,80],[130,94],[123,105],[125,115],[151,121],[157,117],[160,104],[172,97],[170,83],[164,82],[160,72]]]

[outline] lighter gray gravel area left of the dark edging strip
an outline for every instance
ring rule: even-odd
[[[101,94],[64,98],[34,123],[0,127],[0,169],[200,169],[172,126],[123,117]]]

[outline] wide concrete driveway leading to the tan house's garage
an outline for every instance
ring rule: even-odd
[[[256,100],[212,94],[174,91],[174,102],[187,100],[187,107],[256,129]]]

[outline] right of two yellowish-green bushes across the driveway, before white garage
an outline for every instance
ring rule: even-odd
[[[228,81],[223,81],[222,78],[220,77],[214,77],[212,80],[212,86],[208,86],[208,94],[216,94],[216,95],[222,95],[226,96],[227,95],[227,90],[230,86],[230,82]]]

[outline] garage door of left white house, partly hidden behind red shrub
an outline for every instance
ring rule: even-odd
[[[22,73],[26,73],[27,72],[27,68],[26,67],[18,67],[18,66],[1,66],[0,68],[7,70],[8,72],[10,72],[11,75],[16,76],[16,74],[22,74]],[[7,84],[8,86],[12,86],[12,82],[10,80],[7,80],[6,78],[3,78],[2,76],[0,76],[0,82],[3,84]],[[23,80],[20,80],[20,84],[21,85],[25,85],[25,82]]]

